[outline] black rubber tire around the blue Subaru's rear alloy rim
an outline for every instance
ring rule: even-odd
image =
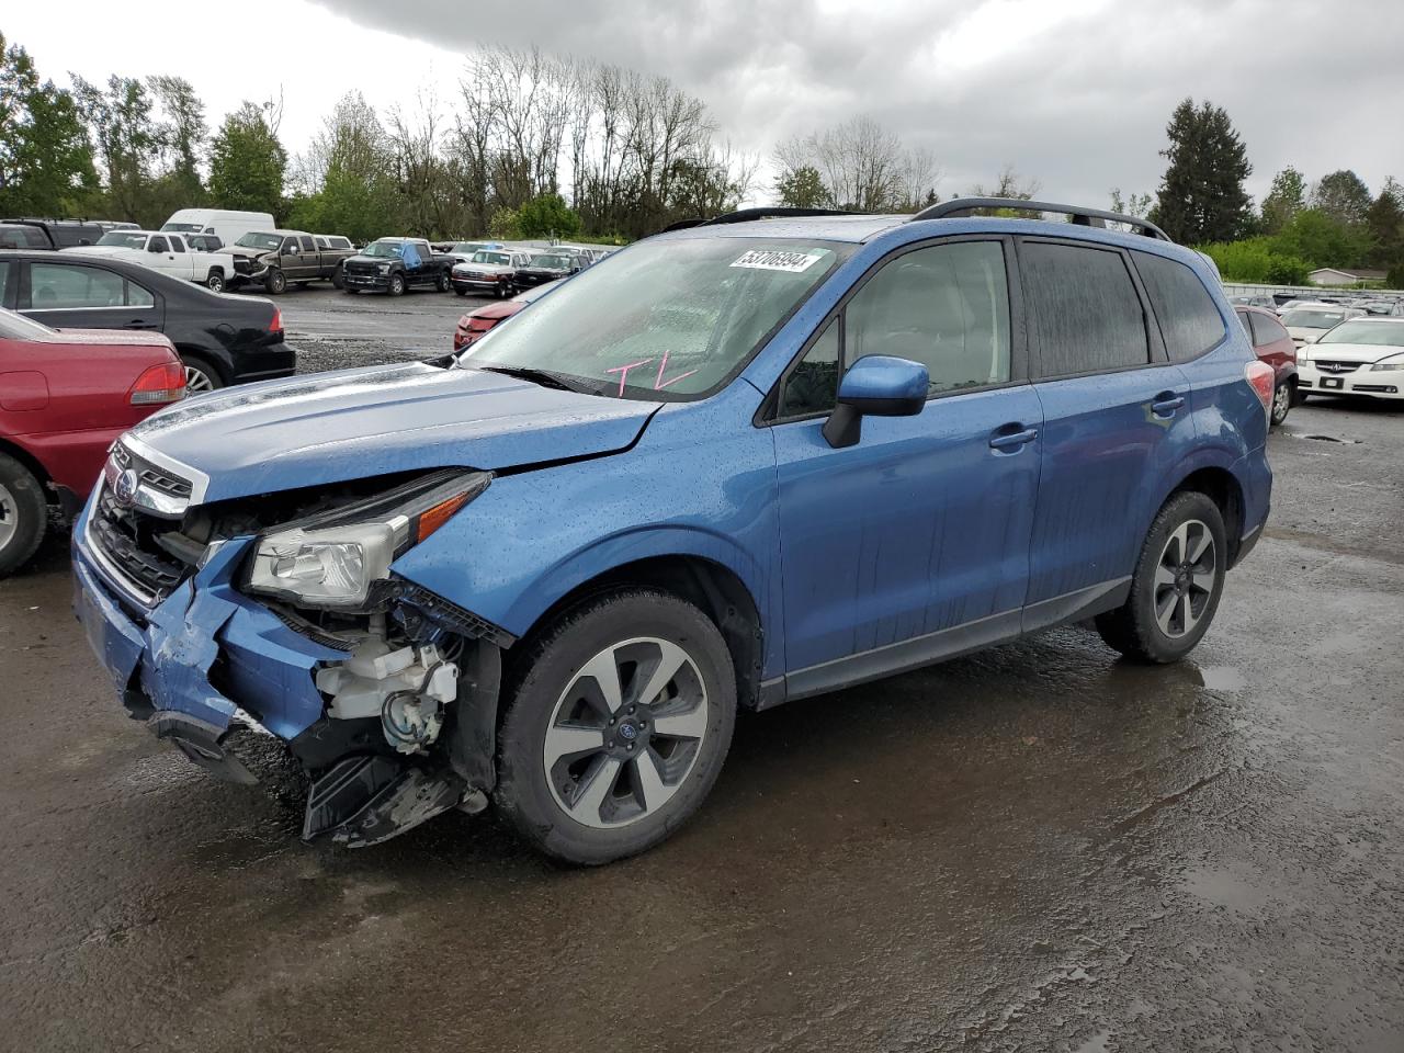
[[[1163,569],[1163,557],[1171,555],[1171,538],[1186,524],[1200,524],[1207,529],[1213,542],[1213,553],[1212,560],[1207,556],[1203,559],[1202,571],[1193,570],[1189,574],[1184,588],[1185,611],[1192,611],[1196,584],[1202,590],[1203,580],[1210,578],[1210,585],[1193,625],[1186,629],[1188,616],[1181,618],[1182,632],[1177,635],[1163,628],[1160,618],[1157,618],[1157,604],[1164,612],[1164,604],[1170,601],[1171,629],[1174,629],[1175,597],[1181,591],[1181,584],[1178,576],[1175,584],[1158,583],[1157,571]],[[1205,494],[1192,490],[1172,494],[1155,515],[1150,532],[1146,535],[1146,543],[1141,546],[1140,557],[1136,560],[1136,571],[1132,576],[1130,595],[1122,607],[1097,616],[1097,632],[1101,633],[1108,647],[1120,651],[1133,661],[1147,664],[1179,661],[1209,632],[1214,612],[1219,609],[1219,600],[1223,597],[1227,557],[1228,546],[1219,505]]]

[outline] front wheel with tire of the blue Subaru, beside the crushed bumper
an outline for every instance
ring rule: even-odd
[[[716,782],[736,723],[722,635],[651,590],[567,611],[504,687],[494,802],[569,863],[608,863],[673,834]]]

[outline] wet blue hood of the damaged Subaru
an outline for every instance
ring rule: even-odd
[[[658,406],[411,362],[230,388],[177,403],[132,434],[204,472],[204,500],[222,501],[390,472],[611,453]]]

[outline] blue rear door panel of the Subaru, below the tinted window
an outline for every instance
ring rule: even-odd
[[[1195,445],[1189,382],[1179,366],[1045,380],[1035,389],[1045,424],[1029,604],[1130,574],[1165,498],[1164,480]],[[1174,399],[1184,402],[1172,407]]]

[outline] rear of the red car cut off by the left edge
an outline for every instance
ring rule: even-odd
[[[0,310],[0,577],[39,548],[51,503],[80,507],[118,435],[184,396],[159,333],[60,333]]]

